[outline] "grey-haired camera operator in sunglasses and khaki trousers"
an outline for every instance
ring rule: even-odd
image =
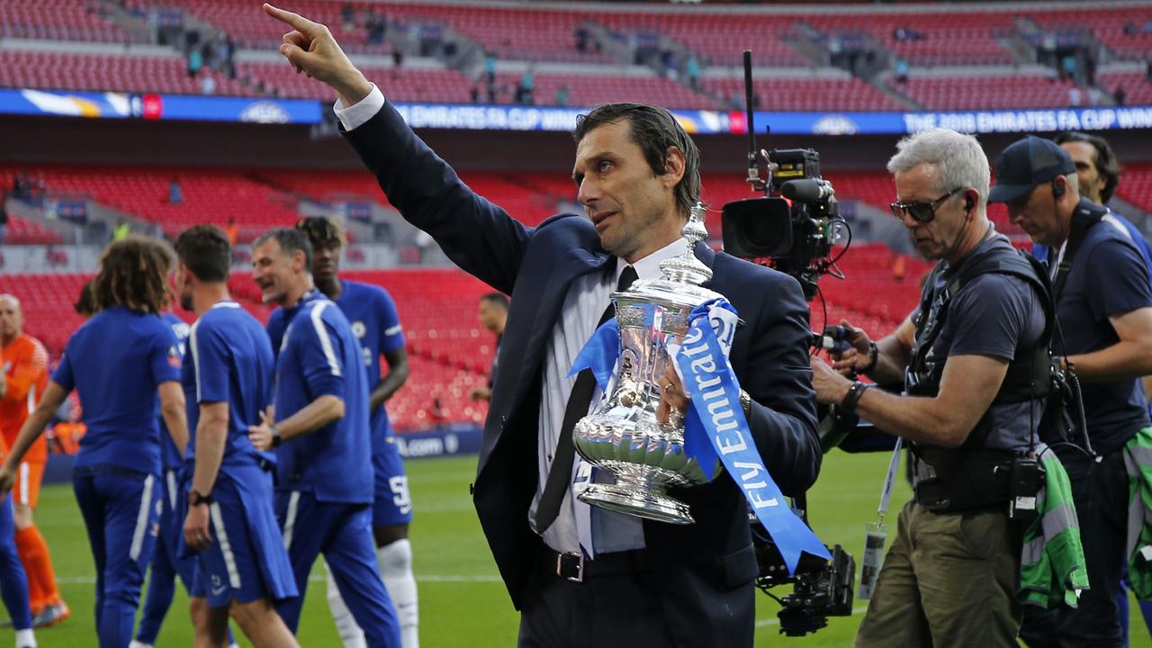
[[[907,439],[915,458],[916,496],[856,646],[1015,646],[1021,535],[1007,475],[1040,420],[1031,383],[1034,367],[1047,374],[1051,304],[1031,263],[987,219],[988,160],[976,138],[918,133],[897,144],[888,171],[893,214],[939,263],[895,333],[873,345],[846,322],[854,348],[835,368],[812,359],[821,402]],[[842,375],[852,372],[903,378],[904,393]]]

